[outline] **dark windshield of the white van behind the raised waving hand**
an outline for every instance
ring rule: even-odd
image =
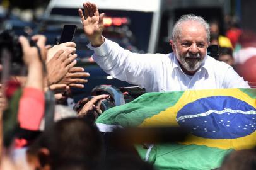
[[[152,12],[102,10],[109,19],[125,19],[120,25],[105,25],[103,35],[119,43],[124,48],[134,52],[144,53],[148,50],[149,35],[151,31]],[[54,16],[78,16],[78,9],[54,8],[51,15]]]

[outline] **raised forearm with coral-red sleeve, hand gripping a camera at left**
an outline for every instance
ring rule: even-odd
[[[28,76],[19,103],[18,122],[20,127],[26,130],[38,130],[45,110],[43,65],[46,58],[46,38],[35,35],[32,40],[37,42],[38,48],[30,47],[28,40],[20,37]]]

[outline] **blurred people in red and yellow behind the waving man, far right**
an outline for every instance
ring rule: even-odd
[[[255,76],[252,74],[254,69],[254,56],[256,33],[252,30],[242,30],[238,26],[238,21],[228,18],[226,21],[226,33],[220,35],[219,23],[213,21],[211,27],[211,45],[218,45],[217,60],[231,65],[240,76],[250,85],[255,84]]]

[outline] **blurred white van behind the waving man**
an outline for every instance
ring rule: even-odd
[[[135,47],[138,52],[150,53],[170,52],[168,42],[172,36],[172,28],[182,14],[199,14],[206,20],[214,19],[223,23],[223,11],[227,3],[225,0],[91,0],[90,2],[95,3],[100,12],[104,12],[108,17],[105,23],[110,22],[110,25],[106,26],[105,37],[109,36],[110,39],[121,44],[125,41],[129,42],[130,50]],[[78,8],[83,8],[83,3],[84,0],[51,0],[44,18],[56,23],[58,21],[76,23],[81,27]],[[111,30],[115,30],[119,35],[110,33]]]

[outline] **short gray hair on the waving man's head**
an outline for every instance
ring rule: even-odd
[[[174,42],[177,42],[177,39],[180,37],[181,31],[182,31],[181,25],[182,25],[182,23],[184,23],[186,21],[197,21],[202,26],[204,26],[204,28],[206,29],[206,33],[207,33],[207,40],[208,40],[208,42],[210,42],[210,26],[209,26],[209,24],[206,22],[206,20],[204,20],[204,18],[202,18],[201,16],[194,15],[194,14],[182,15],[180,17],[180,19],[178,19],[178,21],[175,23],[175,25],[173,27],[173,31],[172,31],[172,38],[173,38]]]

